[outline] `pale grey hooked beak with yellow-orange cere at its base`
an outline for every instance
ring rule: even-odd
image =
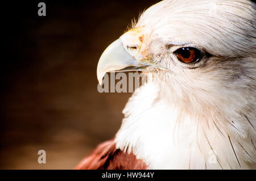
[[[151,55],[143,44],[143,27],[134,28],[115,40],[102,53],[97,66],[97,78],[100,85],[105,73],[113,71],[146,71],[153,67],[165,69],[154,64]]]

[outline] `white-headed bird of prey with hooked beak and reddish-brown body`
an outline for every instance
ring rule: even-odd
[[[256,5],[164,0],[102,54],[147,81],[122,126],[76,169],[255,169]]]

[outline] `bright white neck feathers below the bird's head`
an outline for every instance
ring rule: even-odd
[[[160,99],[158,88],[150,83],[135,92],[123,113],[125,119],[115,137],[117,148],[133,151],[149,169],[250,167],[237,153],[241,143],[224,129],[225,121],[213,119],[221,115],[187,113]]]

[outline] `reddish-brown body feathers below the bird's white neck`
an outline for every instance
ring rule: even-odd
[[[137,159],[133,153],[125,153],[115,148],[113,140],[103,142],[75,169],[81,170],[119,170],[119,169],[147,169],[147,165]]]

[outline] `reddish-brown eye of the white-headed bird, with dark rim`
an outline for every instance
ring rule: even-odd
[[[185,64],[197,62],[202,57],[201,51],[193,47],[179,48],[174,52],[174,54],[176,54],[177,59],[179,59],[179,61]]]

